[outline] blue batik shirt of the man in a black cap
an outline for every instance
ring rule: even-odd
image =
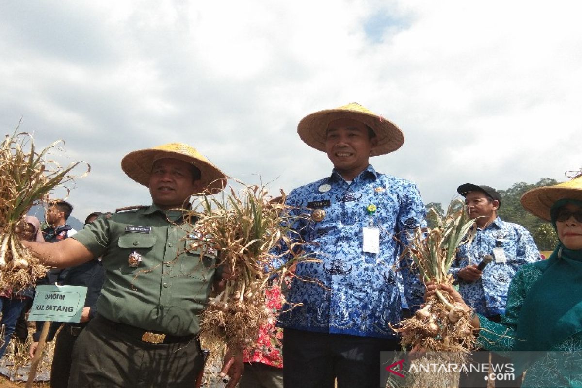
[[[475,282],[459,279],[460,269],[479,264],[487,254],[494,256],[495,248],[503,250],[505,263],[494,258],[485,266],[481,279]],[[488,317],[505,314],[509,283],[519,267],[541,259],[530,232],[499,217],[484,229],[477,229],[473,242],[461,245],[456,257],[449,273],[459,280],[459,293],[471,308]]]

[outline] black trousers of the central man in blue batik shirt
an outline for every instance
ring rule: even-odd
[[[285,388],[379,388],[380,352],[399,350],[398,341],[285,329]]]

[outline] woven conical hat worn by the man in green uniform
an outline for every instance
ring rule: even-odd
[[[226,186],[226,176],[213,165],[196,148],[183,143],[168,143],[154,148],[139,149],[125,155],[121,161],[121,168],[131,179],[139,184],[148,186],[151,169],[159,159],[179,159],[191,163],[201,172],[200,183],[203,190],[218,193]],[[192,193],[199,194],[199,193]]]

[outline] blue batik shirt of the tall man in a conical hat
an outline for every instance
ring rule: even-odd
[[[416,184],[368,166],[348,184],[337,172],[293,190],[296,214],[324,209],[320,222],[301,220],[296,230],[306,254],[321,262],[297,265],[280,325],[312,332],[392,338],[402,286],[411,308],[422,302],[416,273],[399,262],[407,232],[423,226],[425,207]],[[370,215],[366,208],[374,204]],[[363,251],[363,228],[379,229],[379,253]],[[401,267],[402,270],[399,270]]]

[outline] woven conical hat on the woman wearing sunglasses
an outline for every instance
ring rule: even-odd
[[[521,196],[521,205],[534,216],[551,221],[550,209],[558,200],[582,201],[582,176],[554,186],[533,188]]]

